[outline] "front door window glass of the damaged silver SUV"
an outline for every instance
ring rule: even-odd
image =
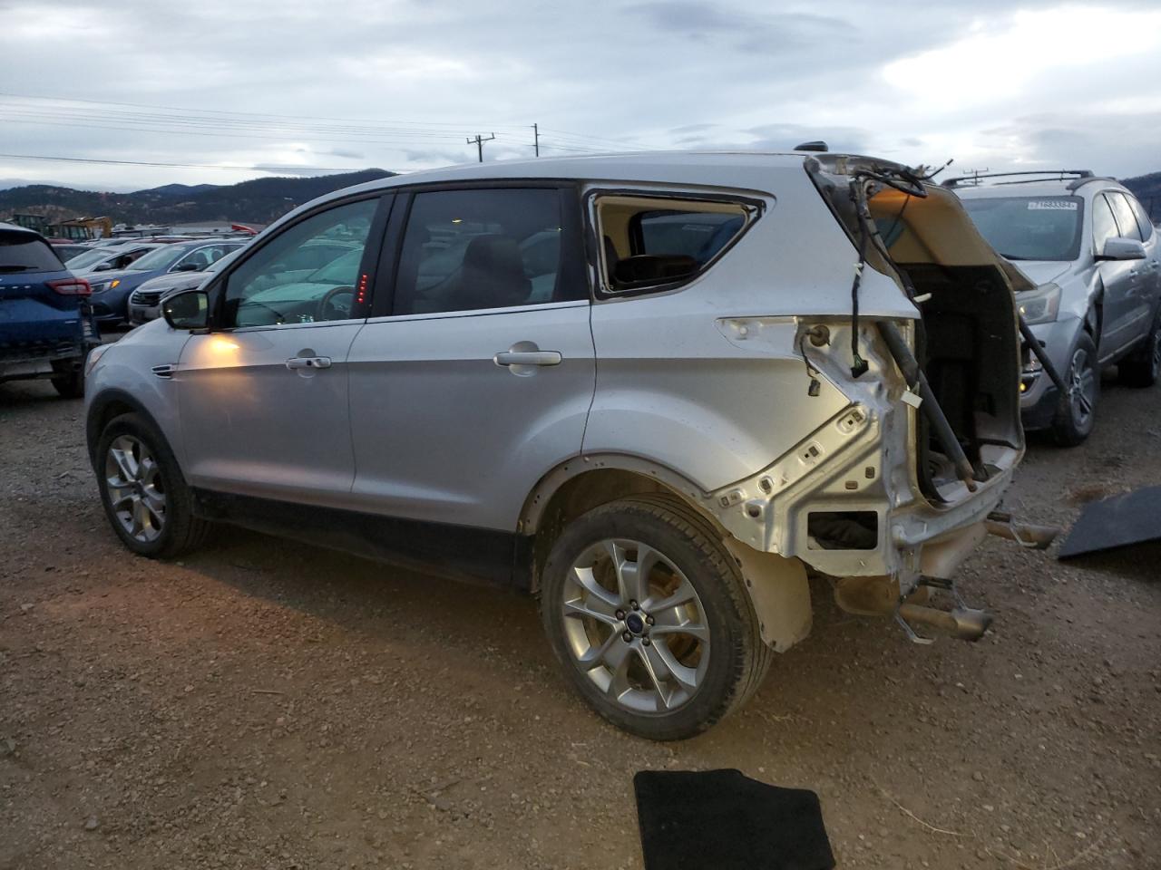
[[[347,320],[377,200],[323,211],[295,224],[240,263],[225,288],[228,326]]]

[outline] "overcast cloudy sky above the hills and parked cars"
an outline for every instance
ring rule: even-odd
[[[0,0],[0,187],[408,172],[475,160],[476,133],[528,158],[533,123],[543,155],[821,138],[1161,171],[1156,0]]]

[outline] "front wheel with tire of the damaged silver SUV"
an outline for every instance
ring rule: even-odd
[[[179,556],[205,539],[211,525],[194,515],[193,493],[173,451],[140,414],[109,421],[98,438],[93,465],[104,515],[132,552]]]

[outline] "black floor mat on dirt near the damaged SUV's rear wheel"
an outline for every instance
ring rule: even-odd
[[[646,870],[831,870],[819,796],[741,770],[633,777]]]

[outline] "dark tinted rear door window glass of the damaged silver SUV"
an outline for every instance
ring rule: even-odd
[[[561,197],[549,188],[416,194],[395,288],[396,314],[577,298],[561,268]]]

